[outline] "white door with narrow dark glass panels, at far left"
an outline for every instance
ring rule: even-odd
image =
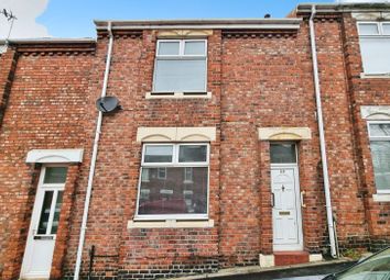
[[[48,279],[66,181],[66,167],[42,168],[26,240],[22,279]]]

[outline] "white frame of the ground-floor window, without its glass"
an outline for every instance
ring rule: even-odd
[[[192,145],[203,145],[206,146],[206,161],[192,161],[192,163],[178,163],[178,152],[181,146],[192,146]],[[172,161],[171,163],[144,163],[144,155],[147,146],[173,146],[172,149]],[[210,145],[209,143],[143,143],[142,155],[141,155],[141,168],[140,178],[138,182],[138,194],[137,194],[137,209],[134,214],[134,221],[166,221],[166,220],[208,220],[209,213],[209,178],[210,178],[210,167],[209,167],[209,154]],[[161,168],[161,167],[207,167],[207,206],[205,214],[161,214],[161,215],[148,215],[139,214],[139,203],[140,203],[140,191],[141,191],[141,175],[142,168]]]

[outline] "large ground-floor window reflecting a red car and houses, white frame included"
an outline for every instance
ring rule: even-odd
[[[208,154],[208,144],[144,144],[137,219],[206,219]]]

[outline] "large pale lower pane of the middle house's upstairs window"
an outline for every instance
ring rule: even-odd
[[[205,91],[206,60],[158,60],[154,91]]]

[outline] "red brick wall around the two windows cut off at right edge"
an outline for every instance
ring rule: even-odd
[[[357,33],[356,21],[345,14],[343,18],[343,26],[345,29],[344,49],[346,57],[346,66],[348,70],[348,85],[351,99],[351,110],[354,117],[354,132],[357,145],[357,164],[361,179],[360,192],[365,200],[366,219],[368,221],[369,233],[372,238],[372,246],[376,247],[376,240],[389,239],[390,222],[390,204],[389,202],[375,202],[375,178],[371,152],[369,147],[369,138],[367,132],[367,121],[361,119],[361,105],[389,105],[390,104],[390,79],[370,79],[360,78],[364,72],[359,38]]]

